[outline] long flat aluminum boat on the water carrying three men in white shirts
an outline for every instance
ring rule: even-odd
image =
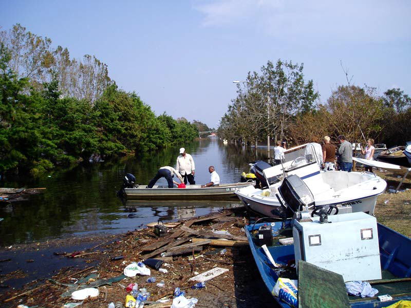
[[[145,185],[135,188],[124,188],[127,198],[139,200],[230,200],[236,198],[235,190],[255,185],[255,181],[245,183],[228,183],[204,187],[187,185],[185,188],[168,188],[155,185],[145,188]]]

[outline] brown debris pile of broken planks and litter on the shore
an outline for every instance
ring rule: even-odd
[[[242,229],[247,222],[244,214],[244,208],[237,208],[177,223],[148,224],[148,228],[127,232],[119,240],[88,251],[64,253],[66,257],[84,258],[87,263],[98,261],[99,265],[81,271],[63,269],[45,282],[34,281],[23,290],[3,294],[0,302],[10,307],[74,307],[81,303],[85,308],[107,307],[113,302],[117,307],[125,304],[130,283],[150,293],[144,301],[149,308],[170,307],[177,287],[185,298],[198,299],[199,307],[250,306],[268,300],[269,294],[261,299],[258,292],[251,294],[245,286],[259,276]],[[160,261],[150,263],[147,259]],[[133,262],[149,269],[150,275],[127,277],[133,274],[124,269]],[[194,287],[200,282],[205,287]],[[99,295],[72,299],[74,291],[85,288],[96,288]],[[168,301],[158,302],[160,299]]]

